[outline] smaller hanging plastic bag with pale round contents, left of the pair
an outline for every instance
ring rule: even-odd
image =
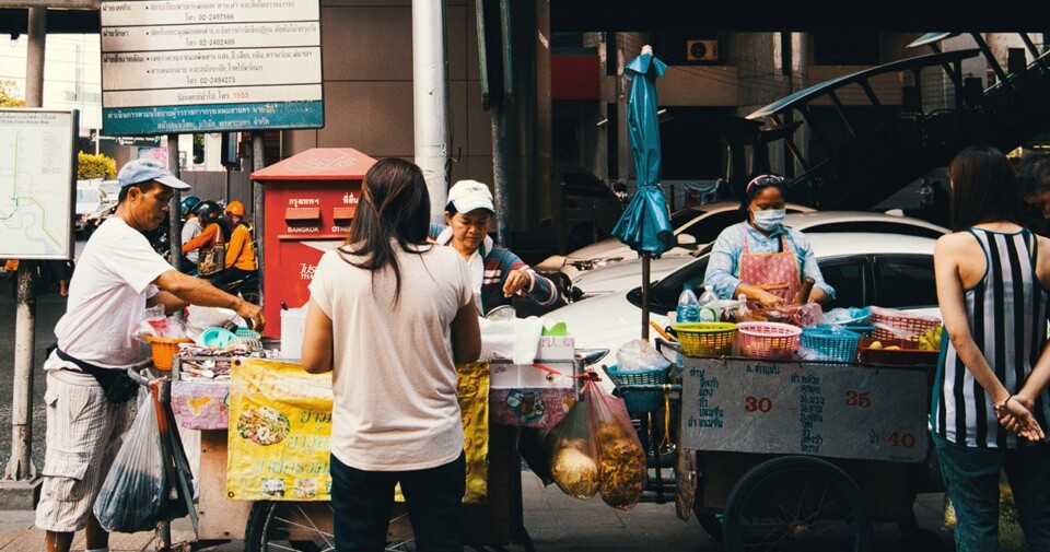
[[[598,492],[597,451],[591,427],[591,410],[576,401],[550,434],[550,477],[559,489],[576,498],[590,498]]]

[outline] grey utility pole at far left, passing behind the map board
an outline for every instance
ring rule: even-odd
[[[25,60],[25,106],[44,105],[44,47],[47,8],[30,8],[30,44]],[[0,503],[7,508],[33,508],[40,479],[33,463],[33,353],[36,347],[36,266],[19,262],[14,333],[14,386],[11,404],[11,459],[0,484]]]

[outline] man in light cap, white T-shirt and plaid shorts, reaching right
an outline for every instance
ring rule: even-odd
[[[89,551],[108,550],[109,535],[92,505],[137,391],[125,371],[140,360],[132,334],[147,307],[164,305],[167,313],[187,304],[225,307],[256,329],[265,324],[258,306],[179,272],[142,235],[167,216],[174,190],[189,185],[152,160],[126,164],[117,180],[117,210],[84,247],[66,315],[55,326],[58,348],[44,363],[47,446],[36,525],[47,531],[48,551],[68,551],[80,529],[86,529]]]

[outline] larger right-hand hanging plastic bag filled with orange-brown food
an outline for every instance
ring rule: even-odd
[[[649,483],[645,451],[631,424],[622,399],[588,380],[582,402],[590,410],[591,431],[598,458],[598,492],[614,508],[629,510],[642,498]]]

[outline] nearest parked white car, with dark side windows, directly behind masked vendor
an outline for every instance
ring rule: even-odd
[[[932,237],[894,234],[838,233],[812,234],[813,250],[820,272],[836,298],[824,305],[836,307],[877,305],[888,308],[921,309],[937,316],[937,292],[933,272]],[[668,324],[682,284],[702,289],[708,256],[667,274],[650,290],[649,319],[661,327]],[[606,364],[616,363],[616,351],[641,337],[641,282],[630,291],[573,303],[545,315],[565,322],[581,349],[609,349]],[[651,331],[651,337],[655,332]]]

